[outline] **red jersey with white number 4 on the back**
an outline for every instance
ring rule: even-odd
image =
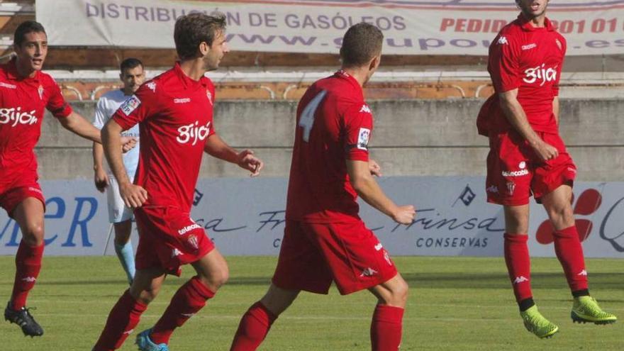
[[[297,107],[286,219],[307,223],[359,221],[346,160],[368,162],[373,129],[362,87],[343,71],[318,80]]]

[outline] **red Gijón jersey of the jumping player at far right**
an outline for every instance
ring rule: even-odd
[[[518,101],[533,130],[557,133],[552,99],[559,95],[566,41],[548,18],[544,24],[535,28],[520,14],[490,45],[488,71],[496,92],[481,113],[494,133],[512,128],[498,104],[498,94],[513,89],[518,89]]]

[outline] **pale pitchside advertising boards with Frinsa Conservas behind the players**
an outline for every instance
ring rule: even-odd
[[[484,177],[384,177],[399,204],[413,204],[411,225],[362,204],[361,214],[392,255],[500,256],[501,206],[485,202]],[[88,180],[42,182],[46,255],[113,255],[106,196]],[[225,255],[277,255],[284,231],[287,179],[201,179],[192,216]],[[587,257],[624,258],[624,182],[579,182],[574,213]],[[530,253],[554,257],[552,229],[532,202]],[[15,255],[21,233],[0,213],[0,255]],[[108,242],[107,242],[108,239]],[[138,243],[136,234],[134,244]]]

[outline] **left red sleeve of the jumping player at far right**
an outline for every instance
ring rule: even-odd
[[[521,84],[518,45],[508,35],[498,35],[490,46],[488,71],[498,94],[517,89]]]

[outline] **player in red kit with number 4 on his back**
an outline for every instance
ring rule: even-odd
[[[383,34],[368,23],[352,26],[340,49],[342,69],[314,83],[299,101],[286,200],[286,228],[267,294],[238,326],[230,350],[256,350],[276,318],[300,291],[340,294],[368,289],[377,297],[372,350],[399,350],[408,285],[360,216],[357,196],[398,223],[412,223],[413,206],[396,206],[372,174],[373,129],[362,86],[379,67]]]

